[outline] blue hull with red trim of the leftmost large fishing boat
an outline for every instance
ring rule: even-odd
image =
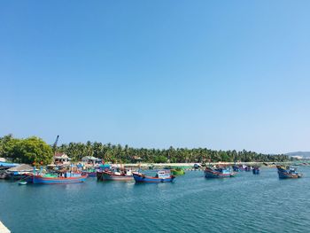
[[[42,184],[59,184],[59,183],[82,183],[86,180],[87,175],[79,177],[43,177],[41,175],[29,175],[28,183],[42,183]]]

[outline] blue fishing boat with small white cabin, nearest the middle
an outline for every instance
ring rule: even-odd
[[[155,176],[133,173],[136,183],[171,183],[175,176],[171,175],[170,170],[159,170]]]

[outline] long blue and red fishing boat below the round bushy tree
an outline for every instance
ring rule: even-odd
[[[28,183],[42,184],[58,184],[58,183],[82,183],[87,178],[87,175],[81,173],[58,173],[55,174],[29,174],[27,175]]]

